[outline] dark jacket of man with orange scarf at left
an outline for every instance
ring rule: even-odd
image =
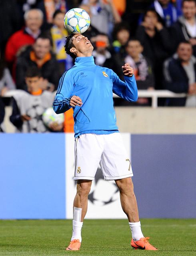
[[[36,62],[31,60],[30,52],[32,51],[32,46],[28,46],[24,52],[18,56],[16,61],[16,87],[17,89],[22,89],[27,91],[26,83],[25,83],[25,73],[28,67],[37,67]],[[56,60],[55,55],[50,52],[51,58],[46,61],[41,69],[42,77],[47,79],[49,83],[52,83],[55,86],[55,90],[58,88],[58,82],[60,79],[60,71],[58,62]]]

